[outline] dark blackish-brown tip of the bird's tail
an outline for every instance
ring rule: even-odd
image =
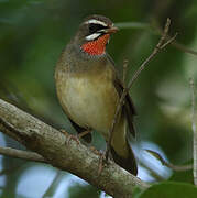
[[[128,146],[128,151],[129,151],[129,155],[127,158],[118,155],[112,146],[110,146],[111,155],[113,157],[113,161],[118,165],[120,165],[122,168],[127,169],[129,173],[136,175],[138,166],[136,166],[135,157],[134,157],[133,151],[132,151],[131,146],[129,145],[128,141],[127,141],[127,146]]]

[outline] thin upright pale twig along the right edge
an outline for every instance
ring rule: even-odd
[[[195,82],[194,78],[190,78],[190,91],[191,91],[191,124],[193,124],[193,174],[194,184],[197,186],[197,131],[196,131],[196,96],[195,96]]]

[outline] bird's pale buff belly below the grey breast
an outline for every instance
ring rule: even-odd
[[[114,116],[118,94],[112,82],[69,77],[62,102],[72,119],[81,127],[92,128],[106,136]]]

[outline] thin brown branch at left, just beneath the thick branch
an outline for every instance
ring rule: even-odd
[[[44,160],[44,157],[42,157],[40,154],[37,154],[35,152],[15,150],[12,147],[0,147],[0,154],[11,156],[11,157],[22,158],[22,160],[26,160],[26,161],[35,161],[35,162],[46,163],[46,160]]]

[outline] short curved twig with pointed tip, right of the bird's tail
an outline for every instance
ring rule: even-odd
[[[152,150],[145,150],[145,151],[149,152],[154,157],[156,157],[164,166],[167,166],[167,167],[169,167],[171,169],[173,169],[175,172],[185,172],[185,170],[188,170],[188,169],[193,168],[193,165],[177,166],[177,165],[174,165],[172,163],[168,163],[155,151],[152,151]]]

